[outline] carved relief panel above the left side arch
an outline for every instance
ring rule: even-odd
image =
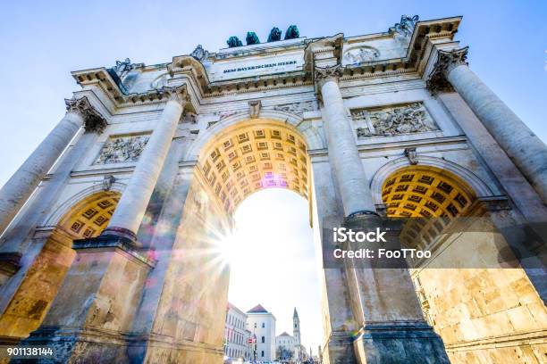
[[[111,136],[106,140],[93,164],[138,161],[149,137],[149,135]]]

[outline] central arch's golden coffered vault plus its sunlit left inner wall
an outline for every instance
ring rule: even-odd
[[[165,349],[149,342],[146,362],[222,362],[230,273],[220,246],[231,234],[233,212],[265,188],[310,195],[307,141],[282,121],[241,120],[211,134],[197,153],[157,313],[149,324],[157,337],[181,346]]]

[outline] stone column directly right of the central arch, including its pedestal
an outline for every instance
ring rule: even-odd
[[[344,227],[371,231],[383,227],[375,211],[365,169],[358,154],[353,128],[343,105],[338,78],[341,66],[316,68],[315,77],[323,98],[322,108],[329,161],[341,194]],[[323,244],[332,244],[324,241]],[[325,252],[324,252],[325,253]],[[326,252],[328,253],[328,252]],[[329,338],[331,362],[448,363],[441,338],[425,323],[408,269],[374,269],[344,261],[346,313],[352,314],[358,329]],[[333,297],[328,297],[332,306]],[[349,342],[353,355],[349,353]],[[354,359],[355,358],[355,359]]]

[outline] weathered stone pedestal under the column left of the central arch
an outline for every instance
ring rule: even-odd
[[[53,349],[52,358],[38,363],[130,362],[129,324],[155,262],[120,236],[76,240],[72,247],[76,258],[42,326],[20,345]]]

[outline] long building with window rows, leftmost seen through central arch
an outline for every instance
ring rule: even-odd
[[[246,328],[247,315],[242,310],[228,302],[226,309],[226,325],[224,328],[224,355],[236,359],[250,359],[248,338],[250,332]]]

